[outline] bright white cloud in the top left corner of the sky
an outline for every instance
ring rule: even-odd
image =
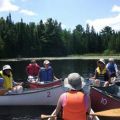
[[[19,7],[12,3],[12,0],[0,0],[0,12],[18,11]]]

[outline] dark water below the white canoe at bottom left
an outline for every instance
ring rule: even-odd
[[[0,106],[0,120],[40,120],[41,114],[51,114],[50,106]]]

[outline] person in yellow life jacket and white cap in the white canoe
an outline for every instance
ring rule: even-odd
[[[0,71],[0,77],[3,78],[3,88],[8,90],[8,93],[21,93],[23,91],[22,83],[17,83],[13,80],[10,65],[3,66],[3,69]]]

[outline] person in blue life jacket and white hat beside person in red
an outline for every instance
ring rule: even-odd
[[[51,82],[53,80],[58,80],[58,78],[54,75],[53,68],[50,65],[49,60],[44,60],[43,66],[39,70],[38,78],[40,82]]]

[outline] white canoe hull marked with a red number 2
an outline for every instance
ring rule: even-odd
[[[56,105],[59,96],[65,92],[62,85],[26,90],[21,94],[0,96],[0,106],[11,105]]]

